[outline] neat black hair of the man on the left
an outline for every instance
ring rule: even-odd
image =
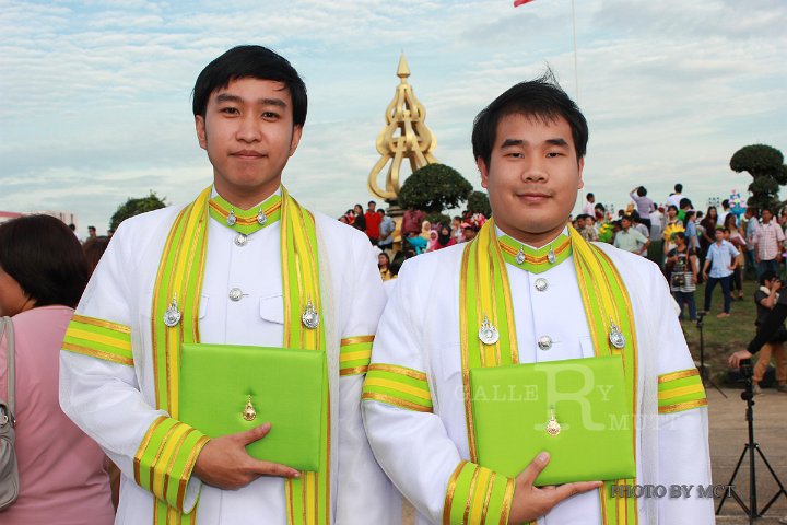
[[[204,117],[211,93],[237,79],[259,79],[281,82],[292,98],[293,124],[306,121],[306,84],[295,68],[282,56],[262,46],[237,46],[210,62],[197,77],[192,92],[195,116]]]

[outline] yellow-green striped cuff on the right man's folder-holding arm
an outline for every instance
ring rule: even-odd
[[[513,479],[473,463],[462,462],[448,480],[443,524],[506,524],[513,495]]]

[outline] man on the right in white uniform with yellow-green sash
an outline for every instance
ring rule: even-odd
[[[587,138],[585,117],[552,78],[507,90],[478,115],[472,132],[492,219],[474,241],[409,259],[399,272],[377,329],[363,411],[375,456],[415,506],[419,524],[714,523],[713,500],[694,493],[612,497],[612,483],[707,486],[707,409],[659,268],[588,243],[567,225],[584,186]],[[554,371],[566,360],[603,355],[623,357],[622,370],[614,366],[627,383],[615,395],[624,417],[636,415],[624,436],[635,443],[636,454],[625,456],[636,463],[636,480],[576,482],[600,475],[569,466],[575,479],[537,487],[559,452],[535,453],[529,464],[520,458],[505,474],[485,464],[483,435],[513,438],[496,425],[475,427],[472,374],[526,363]],[[564,410],[548,397],[539,398],[543,407],[515,406],[538,412],[543,424],[532,432],[541,435],[560,431]],[[602,454],[622,455],[592,451]]]

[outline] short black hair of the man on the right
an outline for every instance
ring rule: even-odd
[[[490,165],[492,150],[497,138],[497,125],[508,115],[526,115],[544,122],[565,118],[572,129],[577,162],[585,156],[588,140],[587,120],[577,105],[557,84],[552,71],[540,79],[520,82],[508,89],[478,114],[473,121],[473,156]]]

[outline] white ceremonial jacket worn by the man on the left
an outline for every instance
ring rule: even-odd
[[[156,271],[174,219],[181,207],[156,210],[125,221],[95,270],[77,313],[131,328],[133,366],[68,351],[61,352],[60,402],[63,411],[98,442],[120,468],[118,524],[152,523],[154,497],[134,482],[133,457],[145,431],[164,415],[155,407],[155,365],[151,352],[151,304]],[[375,334],[386,295],[368,238],[315,213],[320,268],[330,276],[334,319],[329,338]],[[280,221],[248,236],[210,219],[204,281],[199,310],[201,342],[281,347],[284,311],[280,259]],[[243,292],[233,301],[231,289]],[[236,298],[237,299],[237,298]],[[324,303],[326,304],[326,303]],[[331,366],[329,365],[329,370]],[[363,375],[329,382],[331,408],[331,517],[337,524],[400,524],[400,497],[379,469],[361,420]],[[337,387],[338,383],[338,387]],[[336,413],[336,412],[333,412]],[[275,429],[273,429],[275,431]],[[200,525],[286,524],[282,478],[261,477],[239,490],[221,490],[192,476],[187,500],[197,495]],[[399,505],[399,506],[397,506]]]

